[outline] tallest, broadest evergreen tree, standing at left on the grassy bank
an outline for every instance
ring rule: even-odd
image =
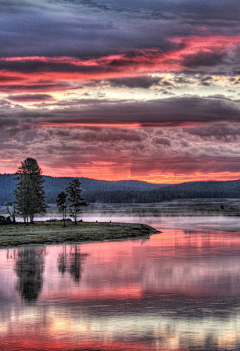
[[[24,222],[33,223],[35,214],[45,214],[47,205],[45,203],[44,179],[41,168],[34,158],[27,158],[21,162],[16,172],[19,183],[14,190],[16,212],[23,216]]]

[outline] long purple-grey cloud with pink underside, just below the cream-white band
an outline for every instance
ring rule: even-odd
[[[71,102],[68,102],[71,105]],[[64,102],[62,102],[64,105]],[[222,96],[182,97],[148,101],[75,100],[74,108],[25,111],[30,123],[132,124],[180,126],[194,123],[239,122],[240,103]],[[81,112],[80,112],[81,111]]]

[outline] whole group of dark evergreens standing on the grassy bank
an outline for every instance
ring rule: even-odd
[[[43,186],[45,180],[38,162],[33,158],[27,158],[21,162],[21,166],[16,172],[16,179],[18,184],[13,190],[15,200],[7,204],[9,216],[14,223],[16,215],[22,216],[24,223],[33,223],[35,215],[46,214],[48,208]],[[66,192],[61,191],[57,196],[57,206],[63,214],[64,226],[66,225],[68,209],[70,217],[73,217],[75,224],[77,224],[81,207],[87,206],[87,203],[81,197],[82,189],[80,185],[79,179],[74,178],[69,183]]]

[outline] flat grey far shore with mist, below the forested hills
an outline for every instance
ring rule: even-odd
[[[6,206],[0,206],[0,215],[8,216]],[[92,203],[84,207],[84,220],[101,219],[121,222],[126,217],[175,217],[175,216],[240,216],[240,199],[177,199],[154,203]],[[81,218],[80,217],[80,218]],[[47,214],[36,215],[36,221],[61,218],[56,204],[49,204]],[[137,220],[141,222],[141,219]]]

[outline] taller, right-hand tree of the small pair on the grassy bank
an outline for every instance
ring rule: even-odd
[[[70,216],[74,218],[75,224],[77,224],[78,214],[81,212],[82,206],[88,206],[85,200],[81,197],[82,189],[80,188],[80,181],[78,178],[74,178],[66,189],[69,195],[69,209]]]

